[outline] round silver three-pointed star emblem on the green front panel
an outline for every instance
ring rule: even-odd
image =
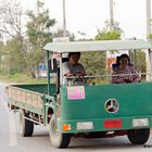
[[[116,113],[119,109],[119,104],[115,99],[109,99],[104,106],[107,113]]]

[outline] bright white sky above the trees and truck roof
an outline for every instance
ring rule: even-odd
[[[36,9],[37,0],[21,0],[24,10]],[[124,38],[147,38],[145,0],[113,0],[114,21],[124,30]],[[52,29],[63,27],[62,0],[43,0],[50,11],[50,17],[56,20]],[[86,34],[85,38],[93,38],[97,29],[102,29],[110,20],[110,0],[65,0],[66,28],[77,38],[77,31]]]

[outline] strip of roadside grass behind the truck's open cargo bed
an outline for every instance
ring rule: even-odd
[[[13,84],[47,84],[47,78],[31,78],[27,74],[0,74],[0,80]]]

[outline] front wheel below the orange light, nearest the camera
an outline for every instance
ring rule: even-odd
[[[62,134],[59,132],[56,128],[56,122],[51,117],[50,124],[49,124],[49,135],[50,135],[50,141],[53,147],[61,149],[61,148],[67,148],[71,141],[71,134]]]

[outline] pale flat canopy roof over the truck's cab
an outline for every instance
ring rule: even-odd
[[[98,40],[98,41],[73,41],[73,42],[49,42],[43,49],[52,52],[87,52],[87,51],[111,51],[151,49],[152,46],[142,39],[138,40]]]

